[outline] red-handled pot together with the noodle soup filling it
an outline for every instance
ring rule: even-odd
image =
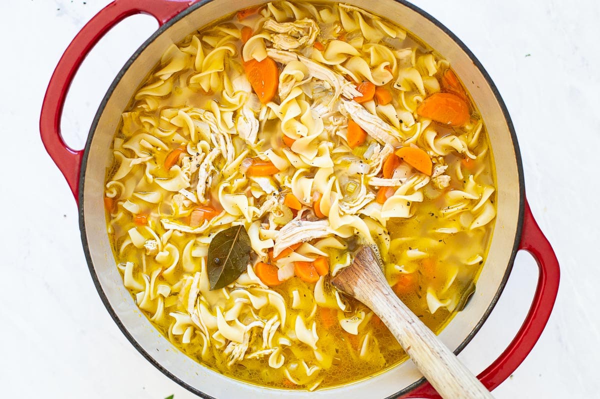
[[[160,28],[110,86],[85,149],[68,148],[74,73],[136,13]],[[329,284],[361,244],[456,353],[517,251],[533,254],[535,299],[479,375],[489,389],[550,316],[558,263],[506,107],[464,44],[407,2],[116,0],[59,61],[40,131],[107,310],[201,397],[436,397],[381,320]]]

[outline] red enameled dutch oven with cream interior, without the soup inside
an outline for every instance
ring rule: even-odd
[[[517,251],[531,253],[538,263],[539,277],[529,313],[506,350],[478,376],[488,389],[494,389],[532,350],[550,317],[559,286],[558,261],[527,204],[523,167],[511,119],[482,65],[436,19],[402,0],[347,2],[400,23],[448,59],[465,82],[487,126],[497,171],[497,217],[493,239],[475,294],[439,337],[455,353],[460,352],[496,304]],[[41,109],[41,139],[79,205],[83,248],[98,293],[131,344],[160,371],[200,397],[437,398],[437,393],[410,361],[356,383],[315,392],[282,391],[224,377],[188,358],[158,334],[146,317],[140,317],[140,310],[123,286],[110,248],[103,206],[106,167],[112,158],[110,145],[121,112],[169,44],[178,43],[212,20],[256,4],[259,1],[115,0],[82,28],[59,61]],[[94,44],[110,28],[125,17],[139,13],[154,16],[160,28],[116,76],[94,118],[85,149],[69,148],[61,137],[60,121],[74,74]]]

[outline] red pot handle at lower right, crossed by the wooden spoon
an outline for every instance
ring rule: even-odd
[[[477,376],[490,391],[517,370],[517,367],[529,355],[542,331],[544,331],[559,289],[560,269],[558,259],[556,259],[550,242],[545,238],[544,233],[539,229],[538,223],[533,218],[527,199],[525,199],[525,215],[519,250],[525,250],[532,254],[538,263],[538,286],[529,313],[527,313],[527,317],[515,338],[502,352],[502,355]],[[428,382],[425,382],[410,391],[404,398],[437,399],[440,396]]]

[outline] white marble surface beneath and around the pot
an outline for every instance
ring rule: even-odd
[[[71,38],[108,0],[2,0],[0,392],[18,398],[194,395],[145,361],[110,319],[90,278],[77,208],[41,145],[47,82]],[[554,313],[497,398],[600,397],[600,3],[595,0],[415,1],[487,68],[518,134],[527,195],[562,266]],[[156,28],[133,17],[77,75],[65,136],[79,147],[128,55]],[[482,370],[529,307],[537,270],[520,253],[508,287],[461,357]]]

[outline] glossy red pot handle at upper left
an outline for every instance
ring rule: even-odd
[[[79,169],[83,150],[70,148],[62,139],[61,116],[65,97],[83,59],[113,26],[134,14],[149,14],[163,25],[197,0],[115,0],[79,31],[67,47],[50,78],[41,106],[40,134],[46,151],[67,179],[78,201]]]

